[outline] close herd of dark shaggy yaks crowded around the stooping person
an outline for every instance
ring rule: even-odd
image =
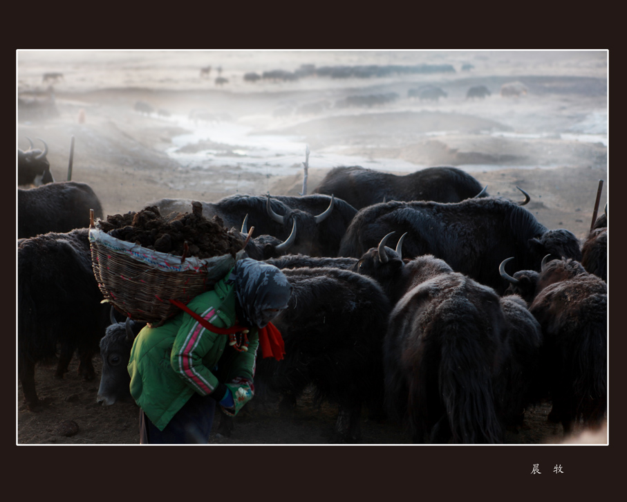
[[[38,362],[56,357],[62,378],[77,353],[79,373],[93,379],[98,351],[98,402],[129,399],[126,366],[144,323],[101,303],[86,221],[90,209],[102,217],[97,196],[84,183],[54,182],[46,150],[32,142],[19,151],[18,174],[20,185],[44,183],[18,189],[26,404],[41,409]],[[521,202],[489,196],[455,167],[406,176],[337,167],[314,192],[203,203],[204,216],[236,228],[247,255],[293,286],[274,323],[286,357],[258,361],[260,398],[270,389],[290,409],[312,386],[339,408],[337,442],[360,440],[363,409],[395,420],[414,443],[503,443],[541,402],[565,433],[605,420],[607,209],[582,243],[539,223],[523,190]],[[191,202],[151,205],[165,215]]]

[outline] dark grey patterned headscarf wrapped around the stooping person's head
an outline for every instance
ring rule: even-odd
[[[231,277],[247,324],[265,327],[277,313],[268,309],[288,307],[292,285],[279,268],[263,261],[244,258],[235,263]]]

